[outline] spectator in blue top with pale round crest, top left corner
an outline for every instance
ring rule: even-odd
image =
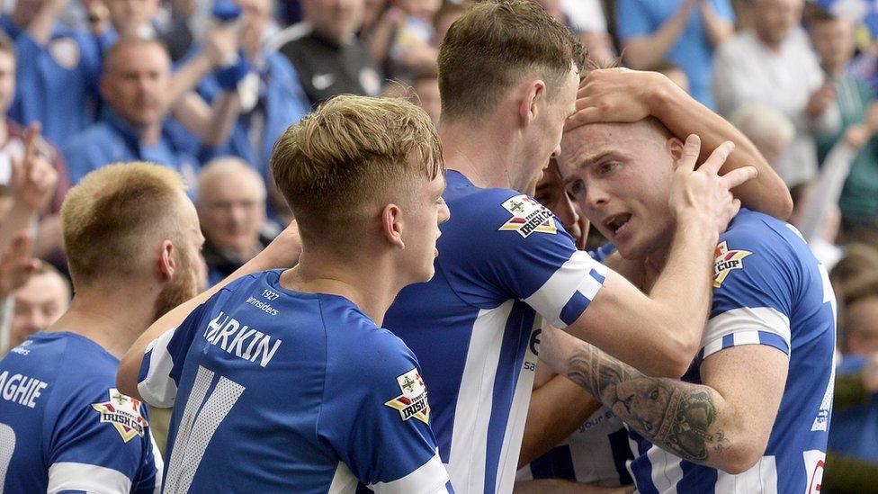
[[[121,1],[121,0],[120,0]],[[16,95],[9,116],[24,125],[42,123],[58,146],[94,122],[101,74],[101,41],[89,32],[58,24],[67,0],[21,0],[0,16],[0,28],[13,39],[20,60]],[[23,90],[27,88],[27,90]]]

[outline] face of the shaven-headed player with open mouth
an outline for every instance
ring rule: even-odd
[[[626,259],[667,248],[674,157],[649,124],[591,124],[564,135],[558,159],[567,190]]]

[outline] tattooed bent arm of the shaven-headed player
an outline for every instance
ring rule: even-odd
[[[788,365],[773,347],[735,346],[705,359],[692,384],[646,376],[559,330],[543,331],[540,357],[651,443],[733,474],[765,453]]]

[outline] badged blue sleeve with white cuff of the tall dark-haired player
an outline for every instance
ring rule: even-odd
[[[470,277],[454,283],[458,295],[484,308],[521,300],[557,328],[576,321],[604,285],[606,267],[578,251],[551,211],[527,195],[495,193],[476,206],[478,211],[467,211],[471,228],[459,228],[457,235],[479,231],[482,238],[457,238],[468,246],[455,260],[463,269],[446,273]],[[493,300],[468,287],[490,287]]]

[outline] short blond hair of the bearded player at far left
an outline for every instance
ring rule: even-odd
[[[179,238],[175,207],[183,177],[165,166],[115,163],[85,175],[61,206],[61,233],[74,284],[104,274],[138,274],[145,240],[156,231]]]

